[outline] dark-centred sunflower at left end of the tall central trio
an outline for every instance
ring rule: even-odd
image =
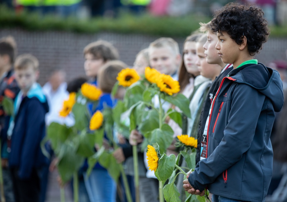
[[[117,76],[117,80],[119,81],[119,85],[128,87],[131,84],[137,82],[140,79],[140,76],[134,69],[126,68],[119,72]]]

